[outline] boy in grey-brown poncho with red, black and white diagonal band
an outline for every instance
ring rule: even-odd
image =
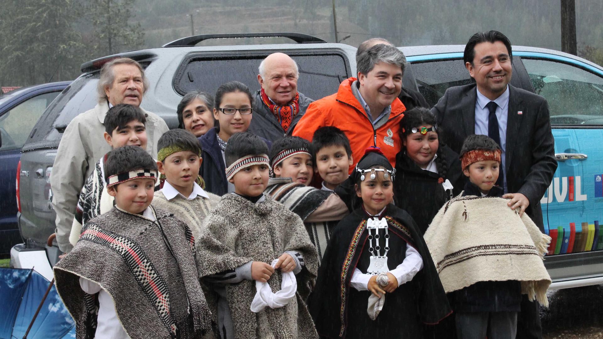
[[[78,338],[200,338],[211,314],[197,279],[191,230],[150,206],[157,164],[120,147],[105,163],[115,207],[91,219],[54,267]]]

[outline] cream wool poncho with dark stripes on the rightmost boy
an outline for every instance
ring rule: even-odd
[[[480,281],[519,280],[522,294],[548,307],[551,277],[543,256],[551,238],[508,199],[458,195],[446,203],[425,233],[446,293]]]

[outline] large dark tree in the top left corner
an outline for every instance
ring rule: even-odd
[[[0,11],[0,79],[5,86],[71,80],[80,73],[77,0],[6,1]]]

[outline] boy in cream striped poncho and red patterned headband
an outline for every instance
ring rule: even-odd
[[[543,255],[551,241],[526,214],[507,206],[499,177],[500,148],[472,135],[461,150],[469,181],[435,216],[425,242],[456,313],[461,339],[515,338],[521,294],[548,306],[551,277]]]

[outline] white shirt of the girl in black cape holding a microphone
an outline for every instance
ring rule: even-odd
[[[385,208],[384,208],[385,209]],[[379,212],[383,213],[384,209]],[[377,215],[379,215],[377,214]],[[391,273],[398,280],[398,286],[409,282],[423,268],[423,259],[414,247],[406,244],[406,258],[400,265],[391,270]],[[358,291],[368,291],[368,280],[373,277],[373,274],[362,273],[358,268],[354,268],[350,286]]]

